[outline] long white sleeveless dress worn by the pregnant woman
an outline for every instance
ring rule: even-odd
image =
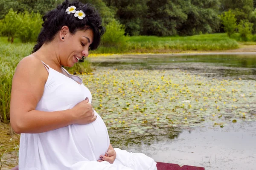
[[[44,63],[44,65],[46,65]],[[49,68],[47,68],[47,67]],[[73,108],[92,95],[82,79],[73,79],[55,71],[49,72],[44,94],[36,110],[63,111]],[[81,84],[77,83],[81,82]],[[44,133],[21,133],[19,170],[155,170],[156,162],[143,153],[129,153],[115,148],[116,160],[98,162],[110,145],[108,130],[98,113],[97,119],[87,125],[73,124]]]

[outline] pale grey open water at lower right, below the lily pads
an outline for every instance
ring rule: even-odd
[[[142,152],[155,161],[194,165],[206,170],[255,170],[256,122],[238,122],[224,128],[184,129],[174,140],[129,144],[123,149]]]

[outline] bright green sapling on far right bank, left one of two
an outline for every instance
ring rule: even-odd
[[[224,14],[221,14],[221,20],[222,24],[224,25],[224,31],[230,37],[232,34],[234,34],[236,29],[235,14],[233,14],[231,10],[224,12]]]

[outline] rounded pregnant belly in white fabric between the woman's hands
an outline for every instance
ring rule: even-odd
[[[87,125],[71,125],[70,130],[79,153],[90,161],[99,160],[110,145],[108,130],[98,113],[97,119]]]

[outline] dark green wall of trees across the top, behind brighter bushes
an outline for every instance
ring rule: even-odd
[[[39,13],[43,15],[63,1],[1,0],[0,20],[4,18],[11,8],[17,11],[17,14],[28,11],[30,14],[34,12],[34,14]],[[253,34],[256,33],[256,0],[80,1],[82,3],[91,3],[96,7],[102,16],[103,26],[107,26],[112,20],[118,20],[125,26],[125,35],[130,36],[183,36],[215,33],[220,30],[220,17],[218,14],[224,14],[224,12],[229,10],[232,10],[233,14],[235,14],[236,24],[240,20],[249,20],[250,23],[253,23]],[[2,35],[5,34],[2,33]],[[27,41],[26,37],[21,39]]]

